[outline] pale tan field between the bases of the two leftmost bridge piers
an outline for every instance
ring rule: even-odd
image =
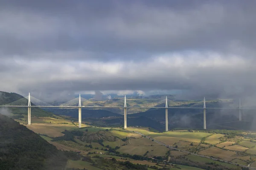
[[[34,131],[35,133],[47,134],[50,137],[64,136],[64,130],[77,129],[75,125],[61,125],[61,124],[32,124],[27,125],[27,128]]]

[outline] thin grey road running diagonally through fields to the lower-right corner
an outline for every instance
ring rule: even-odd
[[[137,134],[140,134],[141,136],[145,136],[144,134],[142,134],[142,133],[140,133],[140,132],[136,132],[136,131],[134,131],[134,132],[137,133]],[[149,136],[145,136],[145,137],[148,138],[148,139],[153,139],[153,138],[150,138]],[[188,151],[186,151],[186,150],[177,149],[176,147],[170,146],[170,145],[168,145],[168,144],[165,144],[165,143],[163,143],[163,142],[157,141],[157,140],[155,140],[155,139],[154,139],[154,142],[157,142],[157,143],[159,143],[159,144],[162,144],[163,146],[168,147],[168,148],[171,148],[171,149],[173,149],[173,150],[178,150],[178,151],[181,151],[181,152],[190,153],[191,155],[196,155],[196,156],[200,156],[200,157],[203,157],[203,158],[208,158],[208,159],[212,159],[212,160],[215,160],[215,161],[221,160],[221,161],[223,161],[223,162],[225,162],[225,163],[228,163],[228,164],[239,165],[240,167],[246,167],[246,168],[249,168],[250,170],[256,170],[256,168],[250,167],[250,164],[249,164],[249,166],[245,166],[245,165],[236,164],[236,163],[233,163],[233,162],[230,162],[230,161],[227,161],[227,160],[223,160],[223,159],[216,159],[216,158],[212,158],[212,157],[209,157],[209,156],[204,156],[204,155],[200,155],[200,154],[197,154],[197,153],[188,152]]]

